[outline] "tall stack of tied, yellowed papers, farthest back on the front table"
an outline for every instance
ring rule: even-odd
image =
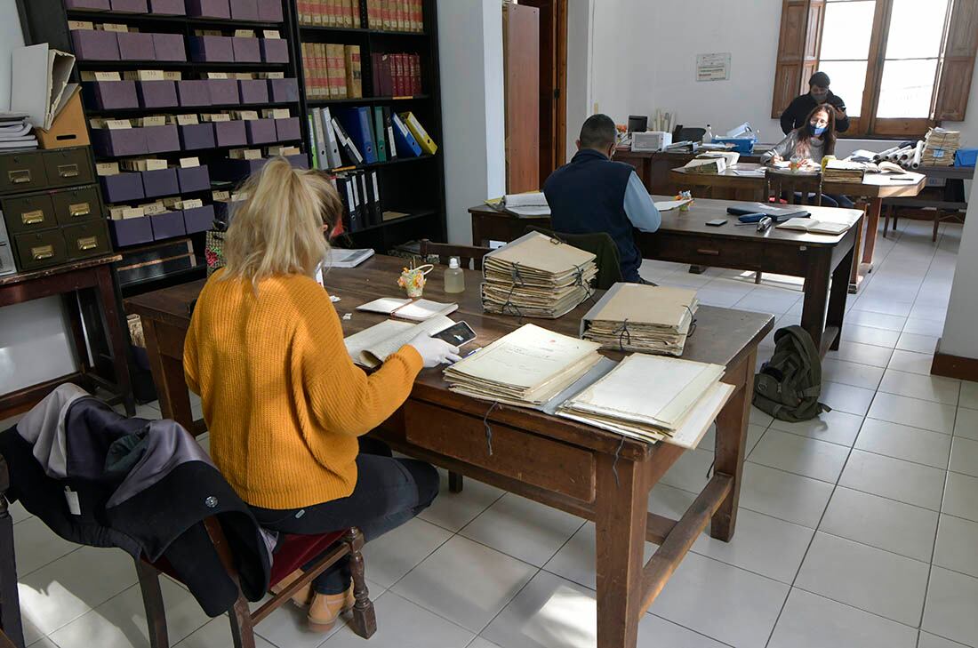
[[[592,295],[595,258],[539,232],[517,238],[483,259],[482,308],[555,320]]]

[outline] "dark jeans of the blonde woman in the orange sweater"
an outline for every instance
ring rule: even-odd
[[[262,527],[281,533],[312,536],[358,527],[366,540],[375,540],[421,513],[437,495],[438,472],[430,464],[395,459],[385,444],[361,438],[357,485],[349,497],[286,510],[252,506],[251,511]],[[338,561],[313,586],[321,594],[346,591],[349,561]]]

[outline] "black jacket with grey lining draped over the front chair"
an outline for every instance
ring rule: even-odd
[[[125,418],[62,385],[0,432],[0,454],[10,471],[10,501],[21,500],[66,540],[165,559],[211,617],[238,597],[204,529],[203,520],[216,516],[245,597],[264,595],[274,540],[177,423]]]

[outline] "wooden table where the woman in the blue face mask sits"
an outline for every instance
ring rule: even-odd
[[[762,164],[737,163],[723,173],[709,175],[705,173],[687,173],[686,169],[678,168],[670,171],[670,177],[683,188],[692,188],[693,195],[703,194],[702,190],[712,191],[712,188],[737,191],[739,199],[767,201],[767,187],[763,176],[740,176],[736,171],[763,169]],[[913,181],[898,181],[890,179],[886,174],[867,174],[862,183],[822,183],[822,194],[854,195],[867,200],[865,207],[866,237],[863,244],[861,265],[854,268],[851,277],[853,292],[859,287],[865,273],[872,272],[872,257],[876,248],[876,232],[879,230],[879,213],[883,198],[911,197],[923,191],[927,178],[920,173],[907,172],[914,176]],[[696,191],[700,190],[700,191]],[[860,239],[863,240],[862,232]],[[857,245],[858,246],[858,245]]]

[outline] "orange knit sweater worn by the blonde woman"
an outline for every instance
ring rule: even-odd
[[[357,437],[411,393],[422,358],[405,346],[372,375],[353,365],[330,296],[297,275],[200,292],[184,373],[200,394],[214,463],[244,501],[300,508],[347,497]]]

